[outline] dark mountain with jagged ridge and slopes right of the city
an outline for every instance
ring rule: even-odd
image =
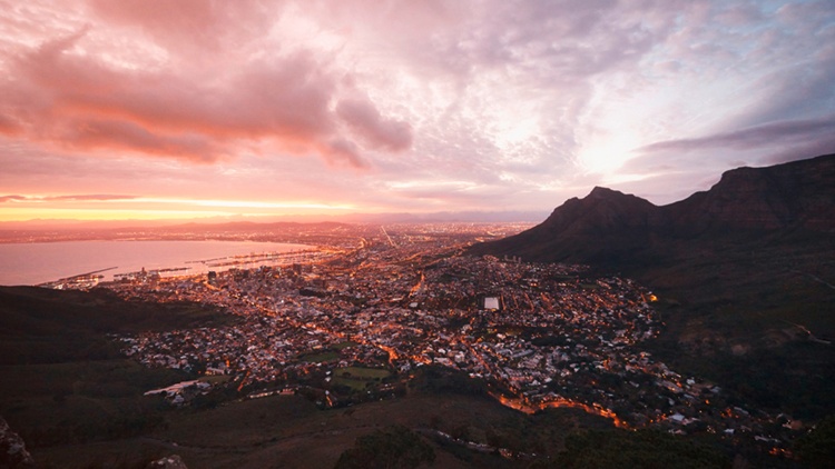
[[[735,169],[664,207],[595,188],[472,252],[636,278],[661,299],[665,360],[766,407],[835,412],[835,154]]]

